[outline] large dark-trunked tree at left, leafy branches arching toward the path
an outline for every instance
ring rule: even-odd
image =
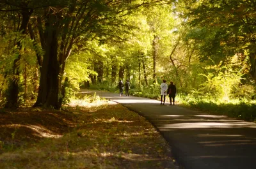
[[[45,50],[40,88],[35,106],[60,108],[58,91],[65,62],[74,44],[97,36],[115,36],[110,27],[118,27],[116,15],[120,3],[111,1],[67,1],[47,7],[38,16],[39,34]],[[59,78],[60,76],[60,78]]]

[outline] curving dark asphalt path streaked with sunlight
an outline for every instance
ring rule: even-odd
[[[81,91],[111,99],[143,115],[172,147],[185,169],[256,168],[256,124],[179,105],[103,91]],[[255,110],[256,111],[256,110]]]

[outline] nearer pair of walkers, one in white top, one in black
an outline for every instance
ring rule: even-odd
[[[174,105],[175,102],[175,96],[176,96],[176,86],[173,84],[173,82],[170,82],[170,85],[166,84],[166,80],[163,80],[163,83],[160,85],[161,87],[161,105],[164,105],[165,98],[167,94],[170,98],[170,105]]]

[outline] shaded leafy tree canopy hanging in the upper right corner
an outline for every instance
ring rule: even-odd
[[[219,62],[241,53],[250,57],[250,74],[256,82],[255,4],[256,1],[180,1],[182,13],[193,27],[205,31],[202,59],[212,56]],[[213,57],[214,56],[214,57]]]

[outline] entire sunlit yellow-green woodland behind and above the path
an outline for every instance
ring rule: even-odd
[[[59,109],[81,87],[256,120],[255,0],[0,0],[1,107]]]

